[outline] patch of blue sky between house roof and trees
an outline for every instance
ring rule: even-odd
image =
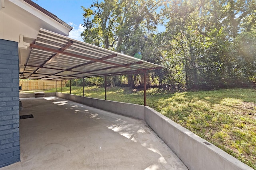
[[[42,8],[56,15],[60,20],[68,23],[72,27],[69,37],[79,41],[83,41],[80,37],[84,28],[83,10],[81,6],[88,8],[92,4],[92,0],[32,0]]]

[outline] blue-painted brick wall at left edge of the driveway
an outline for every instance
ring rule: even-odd
[[[0,168],[20,161],[18,43],[0,39]]]

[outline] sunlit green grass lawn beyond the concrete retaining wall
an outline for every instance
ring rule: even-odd
[[[60,92],[60,88],[57,89]],[[55,92],[55,89],[45,92]],[[70,93],[70,87],[62,89]],[[72,94],[83,95],[82,87]],[[144,104],[144,91],[108,88],[107,99]],[[104,88],[85,87],[85,96],[105,98]],[[150,88],[147,105],[256,170],[256,89],[176,92]]]

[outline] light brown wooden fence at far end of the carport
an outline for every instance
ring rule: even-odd
[[[66,87],[65,81],[62,81],[62,87]],[[56,81],[49,80],[20,80],[21,91],[28,90],[46,90],[56,88]],[[61,87],[61,81],[57,81],[57,88]]]

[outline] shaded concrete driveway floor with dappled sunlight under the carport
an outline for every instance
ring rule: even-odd
[[[1,170],[187,170],[143,121],[62,98],[21,98],[21,162]]]

